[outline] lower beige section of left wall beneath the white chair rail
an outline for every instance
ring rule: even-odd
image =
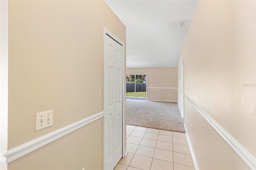
[[[103,118],[10,162],[8,170],[100,170],[102,129]]]

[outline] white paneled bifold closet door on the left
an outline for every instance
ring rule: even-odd
[[[122,158],[122,45],[104,37],[104,168]]]

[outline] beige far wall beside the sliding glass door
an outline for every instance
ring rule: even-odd
[[[177,67],[126,69],[126,74],[146,74],[147,87],[177,88]],[[177,101],[177,91],[177,89],[147,88],[147,99]]]

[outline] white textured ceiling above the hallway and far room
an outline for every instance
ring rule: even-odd
[[[177,66],[197,0],[105,2],[126,26],[127,68]]]

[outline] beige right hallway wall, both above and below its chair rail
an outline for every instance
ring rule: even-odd
[[[256,156],[256,2],[199,1],[178,63],[180,89],[200,109]],[[186,109],[187,108],[187,109]],[[185,102],[185,125],[200,169],[240,169],[232,153],[202,116]],[[208,137],[211,135],[216,138]],[[219,147],[216,147],[218,144]],[[229,154],[224,153],[229,150]],[[210,147],[210,148],[209,148]],[[216,156],[208,156],[208,155]],[[207,155],[207,156],[206,156]],[[210,159],[210,160],[209,160]],[[225,160],[225,161],[224,161]],[[214,162],[210,164],[209,161]],[[234,164],[234,162],[236,162]],[[229,168],[228,168],[229,167]],[[248,168],[248,167],[247,167]]]

